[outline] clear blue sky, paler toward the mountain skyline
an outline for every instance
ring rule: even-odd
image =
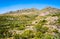
[[[24,8],[60,8],[60,0],[0,0],[0,14]]]

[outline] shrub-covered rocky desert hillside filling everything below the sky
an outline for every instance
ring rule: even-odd
[[[60,39],[60,9],[31,8],[1,14],[0,39]]]

